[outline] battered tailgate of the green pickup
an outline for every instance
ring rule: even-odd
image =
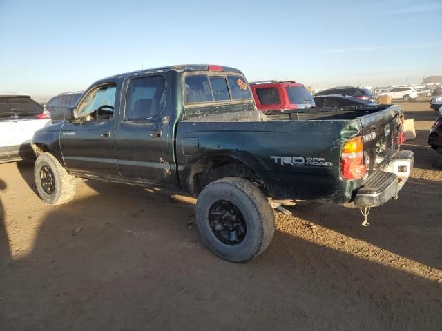
[[[368,172],[379,168],[399,150],[403,111],[399,106],[358,117],[362,124],[364,162]]]

